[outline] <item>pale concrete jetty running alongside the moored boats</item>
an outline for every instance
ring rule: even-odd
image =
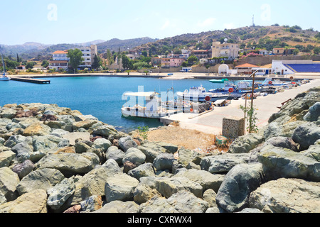
[[[282,103],[289,99],[294,99],[297,94],[306,92],[312,87],[320,86],[320,79],[311,80],[307,84],[302,84],[300,87],[286,89],[284,92],[277,94],[269,94],[267,96],[258,96],[254,99],[253,106],[257,109],[257,126],[262,128],[266,126],[272,114],[279,111]],[[250,106],[251,100],[247,100],[247,106]],[[245,106],[245,99],[233,100],[228,106],[217,107],[207,114],[175,114],[161,118],[161,122],[169,124],[174,121],[179,121],[181,128],[194,129],[204,133],[212,133],[218,135],[222,132],[223,118],[225,117],[244,117],[240,105]]]

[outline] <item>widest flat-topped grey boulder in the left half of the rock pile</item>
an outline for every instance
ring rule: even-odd
[[[85,174],[99,164],[99,157],[94,153],[59,153],[46,155],[36,163],[36,168],[51,168],[59,170],[63,175]]]

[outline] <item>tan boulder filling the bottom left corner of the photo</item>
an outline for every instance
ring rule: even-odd
[[[14,201],[0,205],[0,213],[47,213],[47,194],[43,189],[36,189],[19,196]]]

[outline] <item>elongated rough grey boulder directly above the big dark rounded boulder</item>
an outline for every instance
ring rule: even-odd
[[[249,160],[249,153],[226,153],[223,155],[203,157],[200,166],[201,170],[206,170],[210,173],[225,174],[235,167],[235,165],[247,163]]]

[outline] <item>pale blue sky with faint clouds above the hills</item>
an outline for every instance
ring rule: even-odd
[[[320,31],[319,0],[16,0],[1,1],[0,44],[84,43],[92,40],[239,28],[299,25]]]

